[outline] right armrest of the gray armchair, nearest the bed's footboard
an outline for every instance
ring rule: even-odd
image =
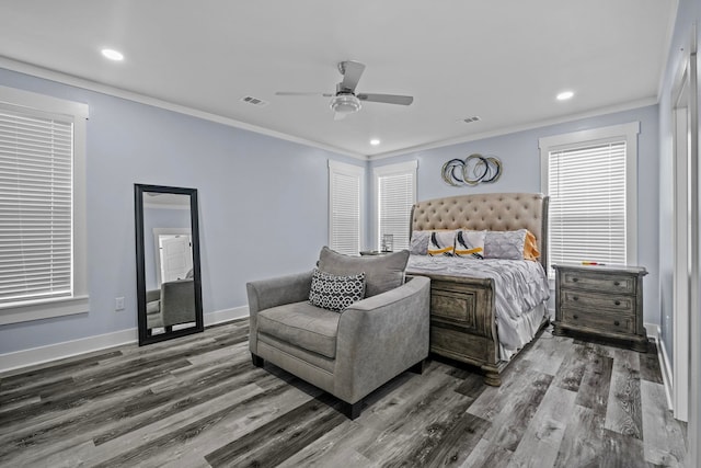
[[[354,403],[428,356],[430,279],[402,286],[345,309],[338,322],[334,387]]]

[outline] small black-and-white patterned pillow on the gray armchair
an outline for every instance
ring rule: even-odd
[[[312,306],[342,312],[365,297],[365,273],[336,276],[314,269],[309,301]]]

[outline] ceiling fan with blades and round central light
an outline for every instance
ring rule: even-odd
[[[332,93],[315,93],[315,92],[289,92],[278,91],[277,95],[322,95],[325,98],[332,98],[330,106],[334,112],[334,119],[338,121],[344,118],[348,114],[358,112],[360,110],[360,101],[367,102],[381,102],[384,104],[399,104],[410,105],[414,98],[411,95],[398,95],[398,94],[370,94],[370,93],[357,93],[355,88],[360,81],[365,65],[359,61],[345,60],[338,62],[338,71],[343,75],[343,80],[336,84],[335,94]]]

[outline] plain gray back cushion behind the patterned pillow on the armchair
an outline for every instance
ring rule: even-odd
[[[404,284],[409,250],[387,255],[350,256],[327,247],[319,254],[319,270],[334,275],[349,276],[365,273],[365,296],[371,297]]]

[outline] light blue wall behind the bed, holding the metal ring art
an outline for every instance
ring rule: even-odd
[[[645,321],[659,323],[657,105],[416,151],[371,161],[370,167],[417,160],[417,199],[471,193],[540,192],[539,138],[629,122],[640,122],[641,127],[637,138],[637,263],[650,272],[644,283]],[[494,155],[502,160],[503,174],[499,180],[492,184],[480,184],[473,187],[453,187],[446,184],[440,176],[443,164],[453,158],[464,159],[473,152]],[[371,215],[370,219],[374,220],[375,215]],[[375,228],[374,222],[372,229]]]

